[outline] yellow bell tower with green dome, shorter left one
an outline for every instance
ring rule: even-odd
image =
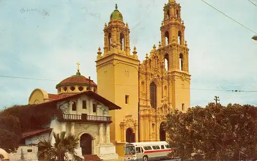
[[[110,139],[116,153],[124,155],[124,143],[138,140],[138,67],[136,47],[130,49],[130,29],[116,4],[108,25],[104,25],[104,47],[98,49],[96,60],[98,94],[119,105],[121,110],[109,111],[113,123]],[[129,134],[127,134],[129,133]]]

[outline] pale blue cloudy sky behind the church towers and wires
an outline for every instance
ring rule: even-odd
[[[251,0],[257,4],[256,0]],[[191,106],[219,96],[223,105],[257,105],[257,41],[253,32],[200,0],[177,0],[185,22],[191,80]],[[257,32],[257,7],[247,0],[206,0]],[[27,104],[35,88],[56,94],[55,85],[76,73],[97,80],[95,60],[103,48],[104,23],[118,4],[131,29],[131,49],[142,61],[160,40],[162,8],[168,0],[0,0],[0,108]],[[24,10],[23,10],[24,9]],[[217,89],[217,90],[204,90]]]

